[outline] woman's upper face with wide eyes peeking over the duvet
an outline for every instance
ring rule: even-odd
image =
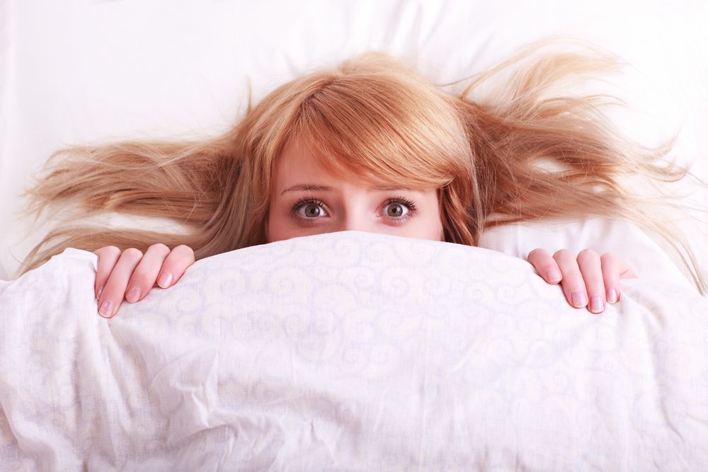
[[[435,189],[370,188],[341,180],[297,143],[285,148],[274,172],[265,226],[268,243],[334,231],[444,241]]]

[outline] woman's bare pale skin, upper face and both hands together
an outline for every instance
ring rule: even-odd
[[[270,195],[266,241],[335,231],[367,231],[409,238],[444,241],[439,190],[372,187],[338,178],[316,165],[297,143],[288,146],[275,167]],[[195,261],[188,246],[150,246],[120,251],[106,246],[96,251],[94,287],[101,316],[110,318],[125,299],[140,301],[155,286],[172,287]],[[577,255],[562,249],[550,255],[535,249],[529,263],[549,284],[561,284],[571,306],[593,313],[605,311],[621,294],[619,280],[636,277],[615,255],[586,249]]]

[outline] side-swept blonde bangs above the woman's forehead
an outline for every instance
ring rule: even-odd
[[[418,84],[389,76],[336,77],[302,102],[290,138],[340,178],[442,188],[462,162],[464,133],[439,96],[411,85]]]

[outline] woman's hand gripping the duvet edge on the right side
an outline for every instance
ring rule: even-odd
[[[605,300],[612,304],[619,300],[619,280],[636,277],[634,270],[615,255],[600,257],[591,249],[584,249],[577,258],[567,249],[553,257],[543,249],[534,249],[527,260],[549,284],[561,282],[572,306],[587,306],[593,313],[605,311]]]

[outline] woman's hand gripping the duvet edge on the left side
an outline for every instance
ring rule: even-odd
[[[189,246],[177,246],[172,251],[164,244],[150,246],[145,255],[130,248],[125,251],[105,246],[94,251],[98,255],[96,284],[98,314],[112,318],[123,298],[130,303],[145,298],[155,286],[164,289],[177,282],[194,263],[194,251]]]

